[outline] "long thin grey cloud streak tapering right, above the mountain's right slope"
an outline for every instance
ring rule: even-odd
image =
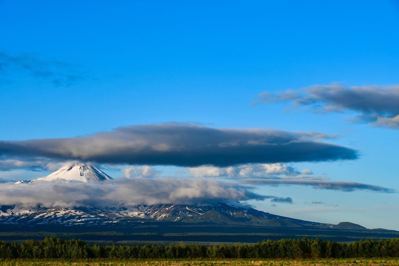
[[[380,187],[376,185],[368,185],[357,182],[347,181],[322,181],[322,180],[298,180],[298,179],[242,179],[242,183],[257,184],[257,185],[303,185],[311,186],[316,189],[331,189],[340,191],[356,191],[356,190],[368,190],[382,193],[397,193],[396,189],[390,189],[386,187]]]

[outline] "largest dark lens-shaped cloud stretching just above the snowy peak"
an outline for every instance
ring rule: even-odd
[[[355,150],[316,141],[313,133],[188,124],[125,126],[75,138],[0,141],[0,155],[185,167],[358,158]]]

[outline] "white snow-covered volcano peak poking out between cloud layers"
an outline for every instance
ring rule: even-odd
[[[108,179],[113,179],[100,169],[90,164],[79,164],[74,163],[69,166],[62,167],[61,169],[46,175],[45,177],[40,177],[32,180],[34,181],[54,181],[57,179],[65,180],[75,180],[75,181],[104,181]]]

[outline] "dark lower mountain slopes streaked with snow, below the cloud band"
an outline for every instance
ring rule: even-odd
[[[3,206],[0,223],[99,225],[128,221],[170,221],[182,223],[216,223],[263,226],[319,226],[313,223],[265,213],[253,208],[235,207],[225,203],[215,205],[137,205],[133,207],[26,208]],[[272,222],[279,220],[281,222]]]

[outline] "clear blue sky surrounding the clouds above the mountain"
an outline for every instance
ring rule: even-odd
[[[0,52],[33,66],[0,68],[0,140],[68,138],[170,121],[315,131],[339,134],[323,141],[354,148],[359,158],[286,165],[334,181],[399,189],[397,130],[352,124],[350,110],[315,114],[284,112],[286,102],[251,105],[264,91],[398,84],[394,1],[1,1],[0,25]],[[155,168],[165,176],[186,171]],[[46,173],[11,170],[0,177]],[[116,169],[107,173],[123,176]],[[259,185],[256,192],[293,199],[277,207],[249,201],[263,211],[399,230],[398,193],[295,185]],[[326,204],[305,204],[313,201]]]

